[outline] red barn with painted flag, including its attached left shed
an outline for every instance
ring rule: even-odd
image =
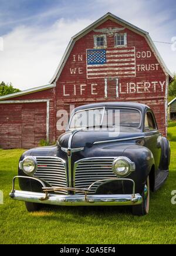
[[[148,32],[107,13],[72,37],[49,85],[0,97],[0,147],[53,143],[59,110],[99,101],[148,104],[166,134],[171,78]]]

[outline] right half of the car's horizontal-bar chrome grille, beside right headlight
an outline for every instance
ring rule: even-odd
[[[75,163],[75,187],[89,188],[96,180],[117,178],[113,173],[112,163],[116,157],[91,157],[84,158]],[[97,182],[90,193],[95,193],[102,182]],[[76,192],[80,194],[80,192]]]

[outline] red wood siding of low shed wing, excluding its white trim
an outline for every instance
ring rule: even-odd
[[[55,88],[9,100],[49,100],[49,142],[56,140]],[[46,140],[46,102],[0,104],[0,147],[4,149],[39,146]]]

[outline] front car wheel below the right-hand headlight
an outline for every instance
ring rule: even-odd
[[[143,216],[145,214],[148,214],[149,205],[150,205],[150,183],[149,183],[149,177],[147,178],[147,181],[145,183],[144,191],[142,193],[142,197],[143,197],[142,204],[132,206],[133,215]]]

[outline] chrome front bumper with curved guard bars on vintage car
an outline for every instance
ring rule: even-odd
[[[16,178],[25,178],[25,179],[34,179],[43,186],[44,193],[30,192],[30,191],[18,191],[15,190],[15,179]],[[116,178],[114,178],[116,179]],[[104,179],[114,180],[114,179]],[[118,179],[118,178],[117,178]],[[118,179],[119,180],[119,179]],[[67,191],[82,191],[84,195],[57,195],[49,193],[50,191],[59,191],[63,188],[47,188],[45,183],[38,178],[28,177],[28,176],[15,176],[12,182],[12,191],[9,194],[11,198],[19,201],[26,202],[35,202],[39,204],[49,204],[49,205],[65,205],[65,206],[98,206],[98,205],[139,205],[143,202],[143,198],[140,194],[135,193],[135,183],[132,179],[121,179],[121,180],[130,180],[133,182],[133,193],[125,195],[89,195],[90,187],[88,189],[80,188],[65,188]],[[97,180],[100,182],[100,180]]]

